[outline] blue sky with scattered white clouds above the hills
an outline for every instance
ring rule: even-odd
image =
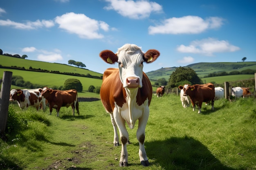
[[[99,53],[126,43],[161,53],[145,72],[256,61],[255,9],[256,0],[2,0],[0,49],[98,73],[117,67]]]

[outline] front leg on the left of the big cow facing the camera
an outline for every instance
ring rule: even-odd
[[[129,134],[126,130],[125,121],[122,119],[117,108],[113,110],[113,116],[119,130],[119,136],[122,143],[121,156],[119,160],[119,166],[128,166],[128,152],[127,152],[127,142],[129,141]]]

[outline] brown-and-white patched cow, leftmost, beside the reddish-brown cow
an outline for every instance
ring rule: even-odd
[[[41,107],[45,111],[45,99],[40,98],[42,88],[36,89],[12,89],[10,91],[9,101],[17,101],[22,110],[27,110],[29,106],[33,106],[36,110]]]

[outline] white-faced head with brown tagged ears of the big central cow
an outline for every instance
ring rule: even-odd
[[[110,50],[101,51],[99,54],[109,64],[118,62],[121,82],[127,88],[142,87],[143,62],[152,63],[159,55],[159,51],[155,49],[143,53],[135,44],[125,44],[116,54]]]

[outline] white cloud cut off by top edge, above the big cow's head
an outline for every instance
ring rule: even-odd
[[[106,0],[110,2],[106,10],[115,10],[124,17],[132,19],[148,18],[152,12],[162,12],[162,6],[148,0]]]

